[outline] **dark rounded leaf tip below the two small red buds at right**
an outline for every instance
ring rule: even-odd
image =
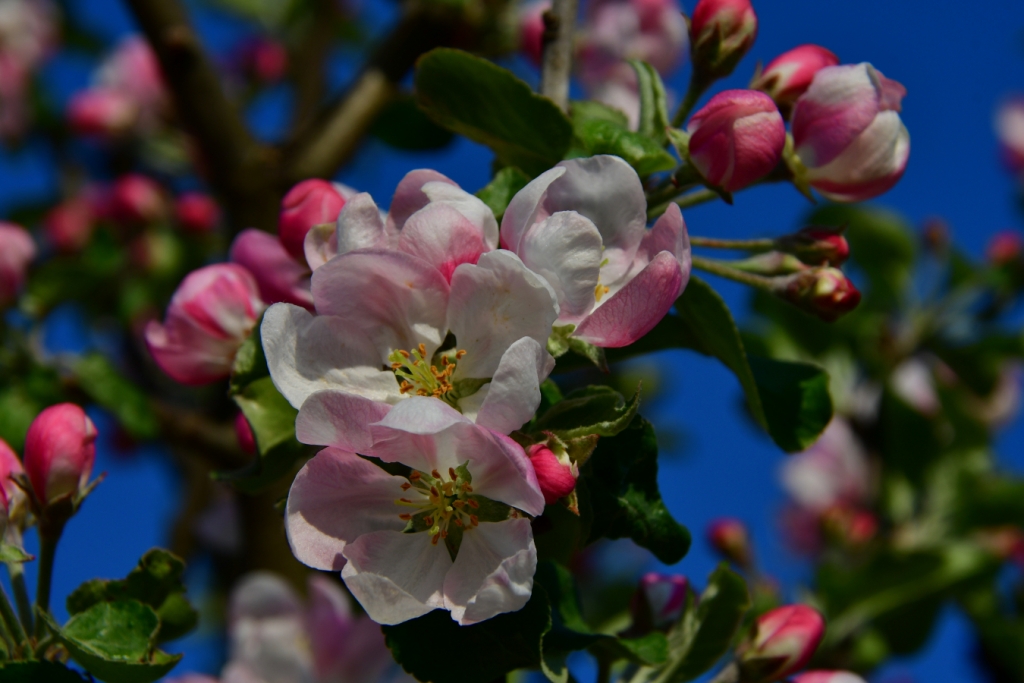
[[[768,433],[783,451],[803,451],[833,416],[828,374],[807,362],[749,356]]]

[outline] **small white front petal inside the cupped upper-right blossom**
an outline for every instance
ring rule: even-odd
[[[530,227],[520,246],[523,264],[555,290],[560,325],[578,323],[593,309],[604,250],[589,218],[560,211]]]

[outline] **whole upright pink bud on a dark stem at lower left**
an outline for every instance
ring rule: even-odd
[[[36,416],[25,437],[25,471],[44,505],[82,489],[96,458],[96,427],[74,403]]]

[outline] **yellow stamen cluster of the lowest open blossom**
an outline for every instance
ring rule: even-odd
[[[413,470],[409,481],[401,484],[409,498],[399,498],[395,503],[417,512],[402,512],[399,519],[410,522],[413,531],[427,531],[435,546],[447,541],[450,528],[458,527],[461,532],[480,523],[476,516],[480,504],[472,497],[471,477],[465,466],[457,471],[450,467],[445,478],[437,470],[430,474]]]

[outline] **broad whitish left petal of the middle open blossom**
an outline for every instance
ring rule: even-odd
[[[273,385],[294,408],[329,389],[374,401],[401,397],[394,373],[381,369],[373,343],[346,321],[278,303],[263,316],[260,337]]]

